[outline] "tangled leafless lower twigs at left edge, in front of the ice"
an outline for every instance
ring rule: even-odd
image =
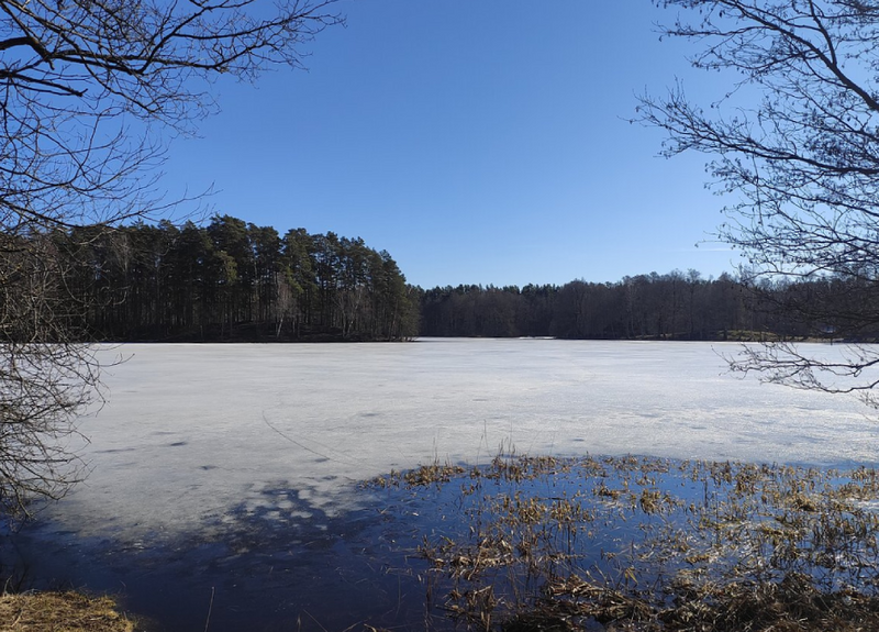
[[[47,236],[2,237],[0,248],[0,514],[27,514],[34,496],[58,498],[82,474],[70,451],[77,414],[100,397],[99,365],[76,342]],[[18,242],[18,243],[15,243]]]

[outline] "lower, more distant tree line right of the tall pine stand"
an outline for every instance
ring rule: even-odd
[[[846,322],[835,278],[750,284],[697,270],[574,280],[563,286],[458,286],[423,292],[421,335],[602,340],[872,340],[879,323]],[[860,301],[861,289],[853,300]],[[876,293],[876,292],[872,292]],[[831,298],[838,318],[828,319]],[[801,309],[791,309],[791,306]],[[811,304],[809,312],[803,304]],[[855,325],[855,326],[853,326]]]

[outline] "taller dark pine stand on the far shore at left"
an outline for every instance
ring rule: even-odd
[[[70,318],[105,341],[402,340],[413,289],[385,251],[231,215],[53,234]]]

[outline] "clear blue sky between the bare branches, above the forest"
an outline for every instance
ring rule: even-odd
[[[361,236],[422,287],[733,271],[701,156],[657,157],[636,95],[696,74],[648,0],[347,0],[308,71],[220,81],[165,186],[281,233]],[[713,84],[712,84],[713,82]]]

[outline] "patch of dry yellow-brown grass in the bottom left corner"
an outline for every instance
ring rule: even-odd
[[[133,632],[110,597],[78,592],[0,596],[0,632]]]

